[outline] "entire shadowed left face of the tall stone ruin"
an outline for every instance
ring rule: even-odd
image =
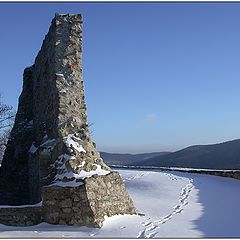
[[[39,163],[36,164],[29,149],[33,142],[36,146],[40,145],[46,132],[50,136],[57,136],[55,35],[55,26],[52,24],[34,65],[24,70],[23,91],[1,167],[1,183],[5,182],[1,187],[4,191],[1,195],[9,192],[6,200],[0,198],[3,204],[29,204],[40,200],[39,194],[33,196],[39,191]],[[9,191],[4,188],[6,185],[11,185]],[[15,196],[11,196],[11,193]]]

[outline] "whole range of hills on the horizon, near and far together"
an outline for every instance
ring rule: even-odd
[[[101,152],[108,165],[240,169],[240,139],[195,145],[176,152],[120,154]]]

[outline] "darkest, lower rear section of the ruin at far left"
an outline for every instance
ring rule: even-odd
[[[26,68],[16,120],[0,171],[0,204],[29,203],[28,150],[33,141],[33,68]]]

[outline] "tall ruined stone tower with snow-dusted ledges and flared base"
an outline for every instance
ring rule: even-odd
[[[82,17],[56,14],[24,70],[15,124],[0,172],[0,204],[42,201],[43,221],[101,226],[135,214],[121,177],[91,140],[82,79]]]

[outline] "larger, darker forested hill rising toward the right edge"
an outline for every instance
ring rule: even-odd
[[[162,156],[154,156],[133,165],[240,169],[240,139],[211,145],[195,145]]]

